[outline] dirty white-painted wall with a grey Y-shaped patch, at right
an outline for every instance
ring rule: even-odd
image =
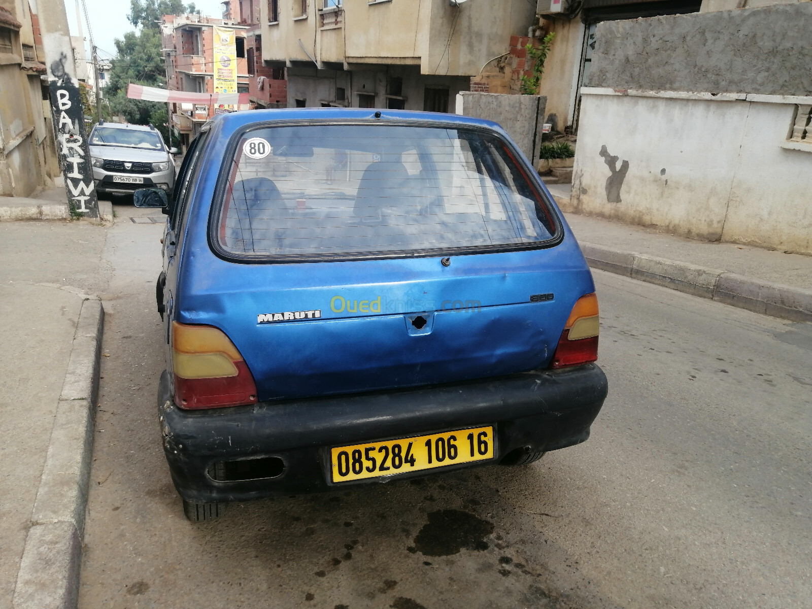
[[[743,94],[583,92],[569,210],[693,238],[812,253],[812,145],[781,146],[793,104],[747,101]],[[620,201],[609,201],[604,145],[618,157],[615,169],[628,161]]]

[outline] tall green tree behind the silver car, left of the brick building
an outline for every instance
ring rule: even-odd
[[[127,97],[128,84],[166,87],[166,67],[162,54],[160,22],[163,15],[200,13],[180,0],[130,0],[129,22],[136,31],[115,39],[116,57],[111,62],[110,82],[105,89],[112,114],[127,123],[153,124],[164,139],[169,135],[166,104]]]

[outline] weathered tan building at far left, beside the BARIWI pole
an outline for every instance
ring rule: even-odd
[[[26,0],[0,0],[0,196],[28,197],[59,175],[45,54]]]

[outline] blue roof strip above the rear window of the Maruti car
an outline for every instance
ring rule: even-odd
[[[378,114],[379,113],[379,114]],[[378,115],[376,115],[378,114]],[[489,127],[504,133],[503,127],[486,119],[473,119],[470,116],[445,112],[421,112],[417,110],[384,110],[377,108],[279,108],[269,110],[241,110],[218,114],[210,121],[211,127],[220,126],[232,131],[251,123],[296,120],[398,120],[419,121],[420,123],[456,123],[460,127]]]

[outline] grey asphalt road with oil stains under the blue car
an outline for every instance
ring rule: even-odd
[[[812,606],[812,326],[595,271],[587,443],[192,525],[156,420],[161,226],[116,211],[82,609]]]

